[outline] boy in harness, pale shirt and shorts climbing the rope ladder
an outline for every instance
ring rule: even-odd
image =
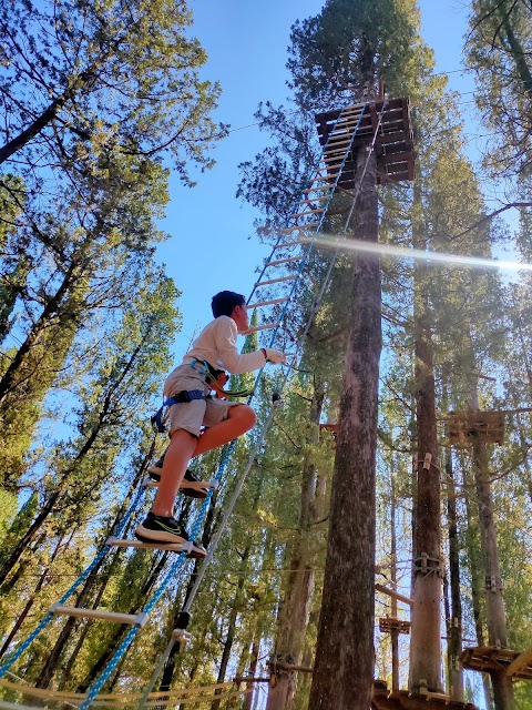
[[[183,363],[164,383],[164,397],[170,412],[170,445],[161,470],[161,481],[151,511],[137,526],[135,535],[147,542],[186,542],[188,534],[174,518],[174,500],[186,477],[186,488],[201,489],[187,470],[195,456],[223,446],[248,432],[256,422],[255,412],[247,404],[211,397],[219,368],[233,375],[260,369],[266,363],[286,363],[279,351],[262,347],[254,353],[239,354],[237,334],[249,331],[249,317],[244,296],[222,291],[212,301],[212,321],[193,342]],[[201,427],[206,428],[203,434]],[[153,476],[153,473],[152,473]],[[191,481],[192,477],[192,481]],[[188,495],[192,495],[188,491]],[[192,557],[205,557],[206,550],[193,540]]]

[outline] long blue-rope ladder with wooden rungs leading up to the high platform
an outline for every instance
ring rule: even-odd
[[[308,264],[313,250],[314,241],[321,230],[329,203],[332,199],[335,190],[338,186],[341,172],[349,154],[352,155],[351,149],[355,138],[360,126],[360,122],[367,104],[355,104],[345,108],[338,115],[334,126],[331,128],[321,156],[317,166],[314,169],[311,176],[297,199],[291,214],[287,219],[285,226],[279,231],[279,236],[274,245],[272,253],[265,261],[260,275],[255,283],[252,294],[247,301],[248,307],[260,308],[262,324],[257,329],[273,331],[269,338],[269,346],[274,346],[278,338],[279,332],[283,329],[288,307],[295,300],[296,288],[304,276],[305,266]],[[376,128],[375,133],[377,133]],[[285,341],[290,341],[288,334],[285,333]],[[294,343],[294,339],[291,339]],[[260,373],[257,377],[260,377]],[[234,443],[233,443],[234,445]],[[222,463],[216,479],[219,480],[228,457],[233,452],[233,445]],[[250,464],[249,464],[250,466]],[[246,471],[247,473],[247,471]],[[86,700],[80,706],[80,710],[89,708],[95,696],[100,692],[104,682],[109,679],[113,670],[116,668],[120,659],[133,641],[137,631],[145,625],[150,612],[157,604],[167,585],[175,575],[178,574],[187,562],[187,554],[191,551],[191,545],[168,545],[168,544],[145,544],[137,540],[124,540],[121,536],[125,529],[126,523],[135,515],[142,504],[142,497],[145,488],[140,490],[135,496],[124,519],[121,521],[115,535],[110,537],[85,571],[70,587],[63,597],[50,607],[49,612],[34,629],[34,631],[14,649],[14,651],[0,666],[0,678],[12,667],[20,656],[28,649],[37,636],[55,616],[81,617],[86,619],[102,619],[109,622],[129,625],[130,631],[124,636],[122,642],[115,653],[109,661],[105,670],[94,681],[88,692]],[[197,537],[203,526],[204,518],[208,510],[212,489],[207,498],[203,503],[197,518],[192,527],[191,540]],[[217,539],[216,539],[217,541]],[[88,578],[91,571],[101,562],[103,557],[113,549],[119,548],[147,548],[155,550],[170,550],[178,552],[176,560],[172,564],[170,570],[165,575],[158,588],[147,601],[146,606],[137,613],[123,613],[119,611],[106,611],[100,609],[84,609],[73,606],[66,606],[65,601],[74,594],[80,585]],[[207,555],[204,566],[209,560],[212,550]],[[0,702],[1,706],[1,702]]]

